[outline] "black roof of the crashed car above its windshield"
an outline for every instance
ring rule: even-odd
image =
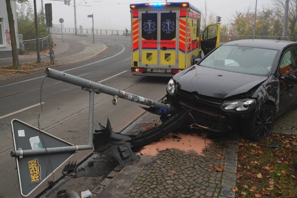
[[[259,47],[266,49],[281,50],[286,46],[297,45],[297,42],[271,39],[245,39],[227,42],[223,45]]]

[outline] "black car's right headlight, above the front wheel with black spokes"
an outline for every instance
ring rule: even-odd
[[[236,101],[225,101],[221,108],[223,108],[224,111],[250,111],[254,109],[256,106],[256,100],[255,99],[242,99],[242,100],[236,100]]]

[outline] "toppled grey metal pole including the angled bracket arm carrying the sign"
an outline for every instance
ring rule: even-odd
[[[168,114],[173,111],[173,108],[169,104],[163,104],[158,101],[153,101],[135,94],[121,91],[112,87],[102,85],[97,82],[89,81],[80,77],[76,77],[64,72],[60,72],[51,68],[45,70],[45,75],[47,77],[67,82],[73,85],[82,87],[83,90],[89,91],[89,132],[88,132],[88,145],[80,146],[65,146],[65,147],[54,147],[54,148],[43,148],[43,149],[32,149],[32,150],[17,150],[11,151],[10,156],[12,157],[22,157],[27,155],[38,155],[56,152],[68,152],[68,151],[79,151],[93,149],[93,122],[94,122],[94,93],[105,93],[113,96],[112,104],[116,105],[117,97],[137,102],[143,105],[153,107],[162,112],[163,114]]]

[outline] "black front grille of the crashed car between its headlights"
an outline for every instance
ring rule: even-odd
[[[193,103],[193,96],[198,96],[198,101],[196,103]],[[193,105],[206,105],[206,106],[212,106],[219,108],[220,105],[223,103],[222,99],[218,99],[215,97],[208,97],[203,95],[198,95],[195,92],[187,92],[181,89],[177,89],[177,96],[179,97],[180,101],[191,103]]]

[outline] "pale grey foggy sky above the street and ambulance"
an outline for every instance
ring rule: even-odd
[[[77,28],[79,26],[92,28],[92,18],[88,18],[87,15],[94,14],[94,29],[113,30],[131,29],[130,4],[161,2],[160,0],[71,0],[71,5],[67,6],[64,4],[64,0],[36,0],[38,11],[41,10],[41,1],[43,1],[43,5],[52,3],[53,24],[61,25],[59,19],[63,18],[64,27],[74,27],[73,5],[75,1]],[[204,10],[205,0],[168,0],[168,2],[189,2],[201,11]],[[256,4],[256,0],[206,0],[206,2],[209,13],[222,17],[221,24],[227,24],[235,11],[245,12],[250,7],[254,12]],[[33,7],[33,0],[29,0],[29,3]],[[257,0],[257,12],[262,11],[262,5],[266,6],[272,3],[272,0]]]

